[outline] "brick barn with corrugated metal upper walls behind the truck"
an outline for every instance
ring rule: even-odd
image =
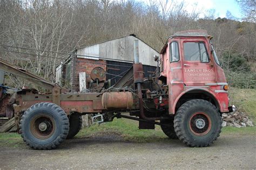
[[[90,89],[90,82],[93,81],[91,73],[97,67],[99,73],[105,73],[102,81],[111,79],[111,85],[115,84],[132,66],[133,42],[136,39],[145,77],[153,74],[157,66],[153,56],[159,56],[159,53],[135,35],[129,35],[72,51],[74,55],[56,68],[56,82],[73,91]]]

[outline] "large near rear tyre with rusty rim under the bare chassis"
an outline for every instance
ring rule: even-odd
[[[42,123],[43,130],[38,126]],[[37,103],[24,112],[20,128],[26,145],[33,149],[54,149],[66,139],[69,119],[58,105]]]

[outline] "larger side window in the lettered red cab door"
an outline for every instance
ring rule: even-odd
[[[185,60],[209,62],[208,53],[203,42],[187,42],[183,44],[183,47]]]

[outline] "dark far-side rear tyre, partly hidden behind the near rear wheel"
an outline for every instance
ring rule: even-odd
[[[72,139],[81,130],[82,116],[78,114],[71,114],[69,117],[69,134],[66,139]]]

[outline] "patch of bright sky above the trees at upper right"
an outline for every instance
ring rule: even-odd
[[[191,12],[196,6],[197,10],[201,11],[200,17],[203,17],[207,10],[215,9],[216,16],[224,18],[226,12],[230,11],[232,16],[241,18],[241,11],[238,3],[235,0],[184,0],[186,10]]]

